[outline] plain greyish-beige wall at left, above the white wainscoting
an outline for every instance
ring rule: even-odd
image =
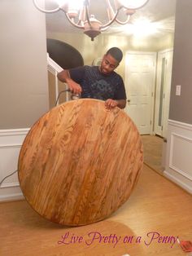
[[[26,0],[0,10],[0,129],[26,128],[48,109],[45,15]]]

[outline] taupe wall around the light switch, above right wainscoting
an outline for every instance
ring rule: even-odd
[[[169,118],[192,124],[192,1],[177,0]],[[181,85],[181,96],[176,86]]]

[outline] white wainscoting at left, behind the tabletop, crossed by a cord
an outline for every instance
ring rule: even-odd
[[[0,130],[0,181],[17,170],[20,148],[29,128]],[[0,201],[24,198],[20,190],[18,172],[5,179],[0,187]]]

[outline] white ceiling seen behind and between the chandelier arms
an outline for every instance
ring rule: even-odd
[[[155,26],[156,32],[153,36],[160,38],[167,33],[174,33],[175,7],[177,0],[150,0],[145,7],[137,10],[129,21],[129,25],[120,25],[113,23],[104,33],[127,34],[132,33],[131,24],[136,20],[148,19]],[[95,17],[101,21],[106,18],[105,5],[103,0],[92,0],[90,14],[94,12]],[[93,11],[94,10],[94,11]],[[72,32],[82,33],[81,29],[74,28],[69,24],[63,11],[53,14],[46,14],[46,29],[49,32]]]

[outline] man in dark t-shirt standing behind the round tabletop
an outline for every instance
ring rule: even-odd
[[[107,109],[125,108],[126,93],[123,79],[114,70],[120,64],[123,53],[112,47],[103,56],[101,65],[83,66],[58,73],[61,82],[66,82],[74,94],[81,98],[105,100]]]

